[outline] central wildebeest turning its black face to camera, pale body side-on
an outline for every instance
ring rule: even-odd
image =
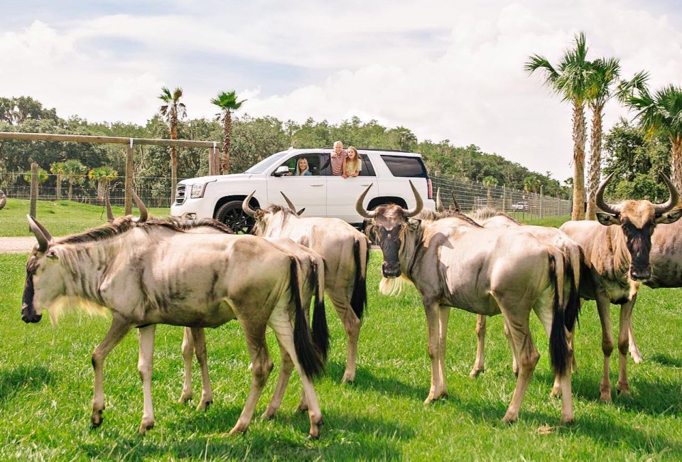
[[[538,362],[529,330],[535,311],[549,337],[550,357],[561,377],[561,419],[573,421],[570,392],[571,350],[566,323],[563,273],[572,271],[556,247],[544,245],[524,232],[494,230],[473,225],[464,217],[430,219],[417,215],[423,206],[412,186],[416,207],[381,205],[364,209],[369,187],[357,199],[357,213],[372,220],[368,232],[384,254],[381,272],[385,280],[404,276],[421,295],[428,323],[431,357],[431,390],[426,402],[445,396],[445,340],[450,307],[491,316],[502,313],[519,355],[519,376],[504,421],[516,421],[526,388]],[[564,268],[566,264],[566,268]],[[390,283],[388,284],[390,285]],[[386,291],[390,287],[384,285]],[[573,315],[575,316],[575,315]]]

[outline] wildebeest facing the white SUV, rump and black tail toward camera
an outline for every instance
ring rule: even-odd
[[[299,216],[286,196],[288,208],[269,205],[253,210],[249,206],[252,195],[244,199],[242,208],[244,213],[255,218],[256,236],[286,237],[313,249],[325,260],[325,291],[343,323],[347,338],[342,382],[353,382],[357,340],[367,305],[367,237],[338,218]]]

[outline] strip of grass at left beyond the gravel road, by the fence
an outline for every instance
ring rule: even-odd
[[[30,210],[28,199],[9,199],[5,207],[0,210],[0,236],[22,237],[31,236],[28,231],[26,215]],[[167,216],[168,208],[149,208],[150,215]],[[124,208],[112,207],[114,216],[124,215]],[[133,208],[134,214],[139,214]],[[36,203],[36,217],[53,236],[68,235],[73,232],[85,231],[91,227],[103,225],[107,222],[107,212],[102,205],[88,205],[72,200],[38,200]]]

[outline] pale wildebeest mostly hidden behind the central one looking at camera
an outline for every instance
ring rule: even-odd
[[[568,298],[567,310],[575,311],[575,316],[571,315],[570,318],[577,317],[577,311],[580,309],[580,298],[578,296],[577,284],[580,281],[580,272],[588,269],[585,265],[585,257],[583,256],[583,249],[580,248],[577,242],[570,239],[568,235],[564,232],[553,227],[545,226],[533,226],[533,225],[521,225],[514,218],[510,217],[506,213],[497,212],[497,210],[485,208],[482,210],[477,210],[476,213],[470,215],[472,220],[482,225],[486,228],[511,228],[514,230],[521,230],[528,232],[529,234],[536,237],[541,242],[547,245],[553,245],[561,250],[565,259],[569,259],[571,262],[571,267],[573,272],[570,274],[565,274],[564,280],[564,296]],[[589,269],[588,269],[589,270]],[[572,290],[573,289],[573,290]],[[485,345],[485,324],[486,317],[482,314],[478,315],[476,322],[476,335],[478,339],[477,350],[476,350],[476,362],[472,371],[470,373],[471,377],[476,377],[484,370],[483,365],[483,352]],[[567,325],[569,332],[573,332],[573,324]],[[514,374],[518,373],[518,363],[516,358],[516,353],[514,350],[514,344],[511,342],[511,337],[509,335],[509,326],[505,323],[504,325],[504,335],[507,336],[509,340],[509,345],[511,346],[511,352],[513,356],[513,370]],[[573,357],[573,365],[575,366],[575,356]],[[557,384],[558,385],[558,384]],[[558,388],[555,387],[553,394],[558,392]]]

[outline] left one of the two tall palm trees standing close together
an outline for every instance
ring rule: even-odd
[[[585,33],[575,36],[575,48],[566,50],[554,68],[541,55],[532,55],[524,65],[529,74],[542,70],[545,84],[563,101],[573,104],[573,214],[572,220],[585,217],[585,100],[590,76]]]

